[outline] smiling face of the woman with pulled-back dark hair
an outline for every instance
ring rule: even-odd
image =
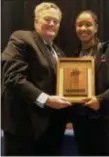
[[[82,13],[76,20],[76,33],[81,42],[90,42],[95,38],[97,24],[90,13]]]

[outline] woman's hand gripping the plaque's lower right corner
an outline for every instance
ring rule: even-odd
[[[85,102],[83,105],[93,110],[98,110],[100,108],[100,102],[95,96],[90,98],[89,101]]]

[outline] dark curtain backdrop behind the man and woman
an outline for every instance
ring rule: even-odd
[[[1,0],[2,50],[13,31],[33,29],[34,8],[41,2],[42,0]],[[104,41],[109,40],[109,0],[54,0],[52,2],[55,2],[63,12],[56,43],[68,56],[75,51],[78,43],[75,34],[75,18],[84,9],[90,9],[97,14],[99,38]]]

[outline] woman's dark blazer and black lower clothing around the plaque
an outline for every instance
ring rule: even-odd
[[[79,51],[73,56],[79,57]],[[75,136],[81,152],[109,155],[109,42],[100,44],[95,58],[95,95],[100,101],[99,110],[78,104],[70,110]]]

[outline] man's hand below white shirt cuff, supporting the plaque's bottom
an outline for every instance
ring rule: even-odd
[[[47,105],[54,109],[62,109],[72,104],[61,96],[49,96],[47,99]]]

